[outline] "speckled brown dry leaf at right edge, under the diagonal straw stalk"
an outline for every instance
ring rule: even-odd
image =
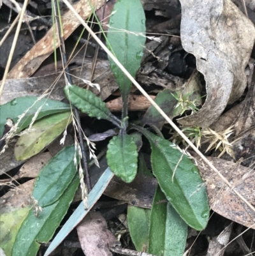
[[[240,193],[251,204],[255,204],[255,172],[252,169],[240,165],[235,169],[235,163],[228,162],[219,158],[210,158],[208,160],[228,178],[229,182],[235,186],[235,190]],[[221,180],[213,170],[199,165],[199,170],[203,181],[207,185],[207,193],[210,207],[219,215],[240,223],[246,227],[255,229],[255,213],[240,200],[235,193],[231,191],[224,181]],[[235,170],[234,170],[235,169]],[[232,172],[232,170],[234,170]],[[229,174],[231,175],[229,177]],[[249,174],[245,178],[245,174]],[[222,192],[221,189],[223,188]]]

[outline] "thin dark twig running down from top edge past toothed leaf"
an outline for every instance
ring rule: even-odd
[[[54,5],[55,5],[55,10],[57,10],[57,1],[54,1]],[[57,23],[57,29],[59,31],[59,39],[60,39],[60,47],[61,47],[61,52],[62,52],[62,60],[64,63],[64,66],[66,66],[65,71],[66,71],[66,77],[68,79],[69,84],[73,84],[73,79],[71,78],[71,75],[69,75],[70,71],[69,71],[69,67],[67,65],[68,61],[67,61],[67,57],[66,57],[66,49],[64,47],[64,38],[62,37],[61,34],[61,26],[60,26],[60,22],[59,22],[59,17],[57,17],[56,19],[56,23]],[[86,179],[86,184],[87,184],[87,189],[88,189],[88,193],[91,192],[91,179],[89,177],[89,169],[87,166],[87,156],[86,156],[86,152],[85,152],[85,147],[84,147],[84,139],[83,139],[83,135],[82,135],[82,126],[80,124],[80,116],[79,116],[79,112],[77,107],[73,106],[74,110],[75,110],[75,119],[77,121],[77,130],[78,130],[78,137],[79,137],[79,142],[80,142],[80,149],[82,151],[82,167],[85,171],[85,179]]]

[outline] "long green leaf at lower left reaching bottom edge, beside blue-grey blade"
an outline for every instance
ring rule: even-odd
[[[78,184],[77,174],[59,200],[50,206],[43,207],[38,218],[31,209],[18,230],[11,256],[35,256],[40,248],[39,243],[50,241],[62,218],[66,215]]]

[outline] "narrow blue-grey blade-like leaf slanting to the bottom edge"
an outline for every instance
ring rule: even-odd
[[[78,223],[80,223],[84,219],[84,217],[87,215],[87,213],[89,213],[94,204],[96,204],[99,197],[101,197],[102,193],[105,191],[106,187],[110,183],[112,177],[112,171],[110,170],[110,168],[107,168],[89,193],[88,209],[85,209],[83,202],[80,203],[77,209],[75,209],[73,215],[71,215],[68,221],[64,223],[62,229],[57,233],[57,236],[54,237],[44,256],[50,255],[50,253],[52,253],[55,248],[60,245],[64,238],[68,236],[69,232],[71,232],[71,230],[73,230],[78,225]]]

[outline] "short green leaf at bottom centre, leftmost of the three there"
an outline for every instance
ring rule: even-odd
[[[150,209],[128,206],[128,227],[132,241],[139,252],[148,251]]]

